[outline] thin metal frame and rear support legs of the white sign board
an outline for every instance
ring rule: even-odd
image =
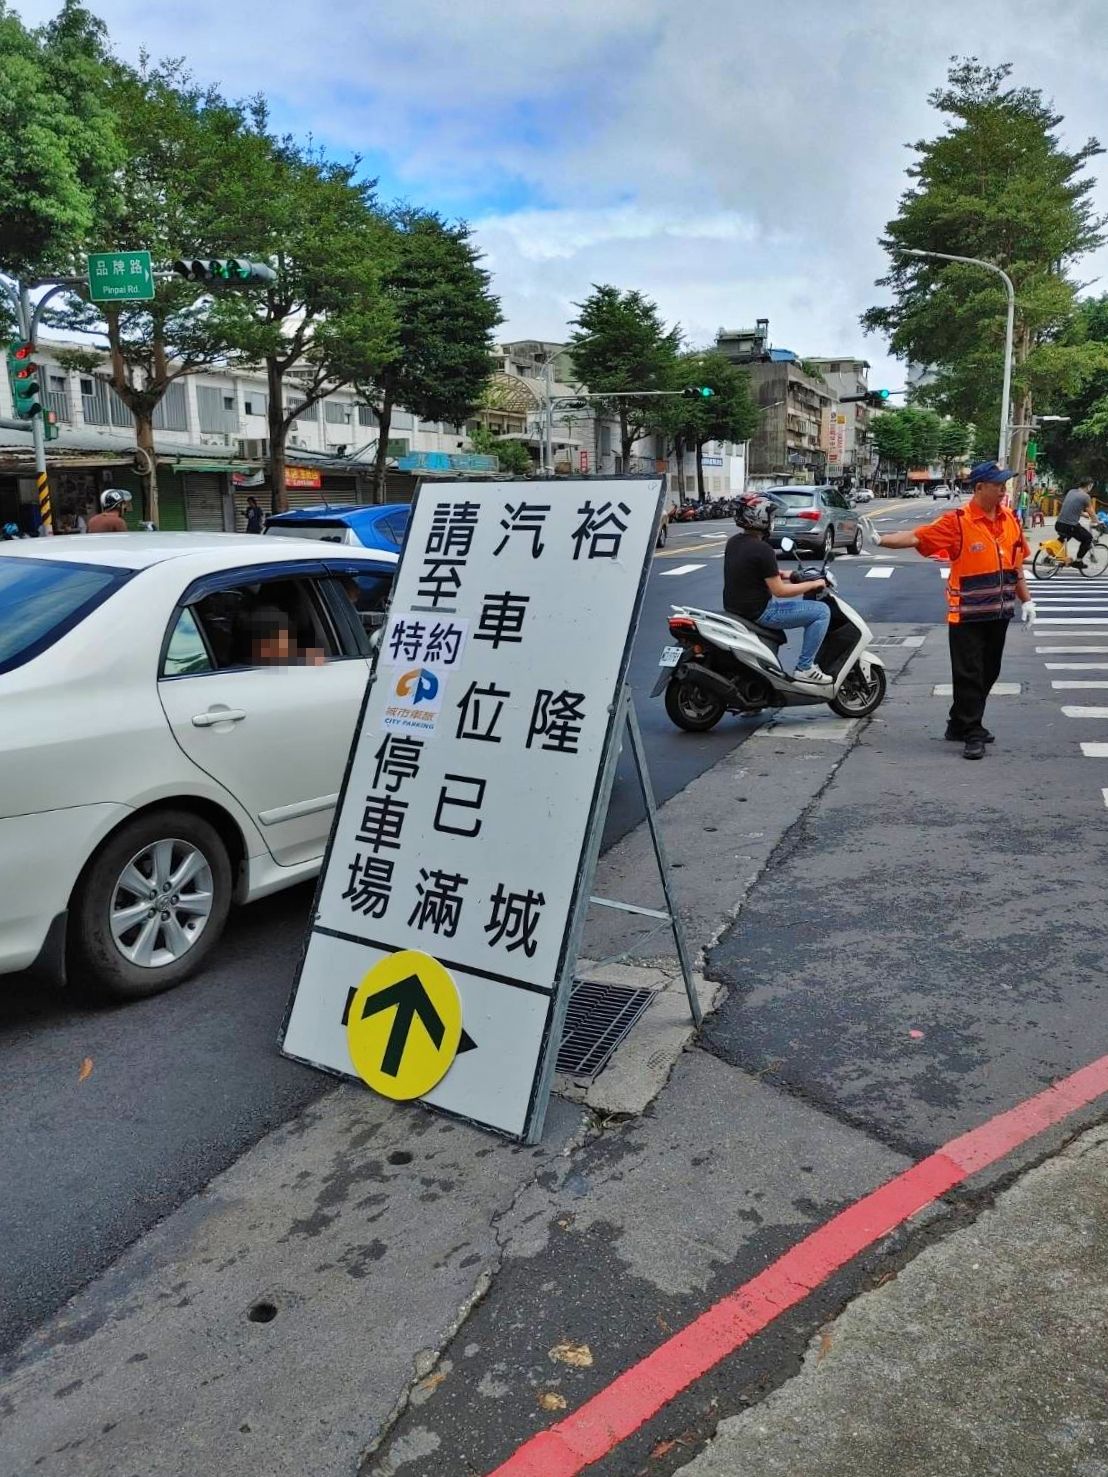
[[[544,1124],[544,1118],[545,1118],[547,1103],[550,1100],[551,1083],[553,1083],[554,1072],[555,1072],[558,1046],[561,1043],[561,1034],[563,1034],[563,1028],[564,1028],[566,1012],[567,1012],[567,1007],[569,1007],[569,998],[570,998],[570,993],[572,993],[573,981],[575,981],[575,975],[576,975],[578,950],[581,947],[581,938],[582,938],[582,933],[584,933],[585,919],[587,919],[587,913],[588,913],[589,904],[595,904],[595,905],[600,905],[600,907],[619,908],[620,911],[635,913],[635,914],[641,914],[644,917],[656,917],[659,920],[668,920],[669,922],[672,933],[674,933],[674,941],[675,941],[675,945],[677,945],[677,953],[678,953],[678,960],[680,960],[680,964],[681,964],[681,973],[683,973],[683,978],[684,978],[685,991],[688,994],[688,1003],[690,1003],[691,1016],[693,1016],[693,1021],[697,1025],[700,1024],[700,1006],[699,1006],[699,1000],[696,997],[696,991],[694,991],[694,985],[693,985],[691,966],[690,966],[690,960],[688,960],[688,951],[687,951],[687,947],[685,947],[684,933],[683,933],[683,929],[681,929],[681,922],[680,922],[680,917],[677,914],[677,907],[675,907],[672,891],[671,891],[669,868],[668,868],[668,863],[666,863],[666,857],[665,857],[665,849],[663,849],[662,837],[660,837],[659,829],[657,829],[657,814],[656,814],[656,806],[654,806],[653,787],[650,784],[650,777],[649,777],[649,771],[647,771],[647,765],[646,765],[646,755],[644,755],[644,750],[643,750],[643,738],[641,738],[641,733],[640,733],[638,722],[637,722],[637,718],[635,718],[634,703],[631,700],[631,690],[629,690],[629,685],[628,685],[628,669],[629,669],[629,663],[631,663],[631,650],[632,650],[632,645],[634,645],[634,641],[635,641],[635,635],[638,632],[638,622],[640,622],[641,609],[643,609],[643,598],[644,598],[644,594],[646,594],[646,583],[647,583],[647,578],[650,575],[650,564],[652,564],[652,560],[653,560],[653,551],[654,551],[654,545],[656,545],[656,541],[657,541],[657,529],[659,529],[659,524],[660,524],[662,510],[665,507],[666,477],[665,476],[659,477],[657,474],[653,474],[653,476],[643,477],[643,479],[619,477],[619,479],[610,479],[610,480],[620,482],[620,483],[637,482],[637,480],[641,480],[646,484],[654,484],[654,483],[657,483],[659,492],[657,492],[657,501],[656,501],[656,507],[654,507],[654,515],[653,515],[653,520],[652,520],[650,542],[647,545],[647,554],[646,554],[646,558],[643,560],[643,569],[640,572],[638,583],[635,586],[635,592],[634,592],[634,598],[632,598],[632,606],[631,606],[631,617],[628,620],[628,631],[626,631],[625,641],[623,641],[623,648],[622,648],[622,653],[620,653],[620,657],[619,657],[618,676],[616,676],[616,682],[615,682],[615,696],[613,696],[613,699],[610,702],[610,706],[609,706],[609,710],[607,710],[607,725],[606,725],[606,731],[604,731],[603,746],[600,749],[600,762],[597,765],[597,780],[595,780],[595,784],[592,787],[592,798],[591,798],[591,803],[589,803],[589,818],[588,818],[588,824],[587,824],[584,836],[582,836],[581,851],[579,851],[579,855],[578,855],[578,866],[576,866],[573,892],[572,892],[572,897],[570,897],[570,905],[569,905],[569,910],[567,910],[566,925],[564,925],[564,929],[563,929],[561,948],[560,948],[560,953],[558,953],[558,957],[557,957],[557,964],[555,964],[555,969],[554,969],[553,988],[550,990],[550,994],[547,997],[548,998],[547,1015],[545,1015],[545,1022],[544,1022],[544,1027],[542,1027],[542,1035],[541,1035],[541,1040],[539,1040],[539,1052],[538,1052],[536,1069],[535,1069],[535,1074],[533,1074],[533,1078],[532,1078],[532,1087],[530,1087],[530,1096],[529,1096],[529,1100],[527,1100],[523,1131],[519,1133],[519,1134],[516,1134],[516,1133],[513,1133],[508,1128],[498,1127],[498,1125],[489,1124],[489,1123],[483,1123],[480,1120],[474,1120],[471,1117],[467,1117],[462,1112],[456,1112],[456,1111],[454,1111],[451,1108],[445,1108],[442,1105],[427,1102],[425,1099],[418,1099],[423,1103],[423,1106],[428,1108],[433,1112],[443,1114],[446,1117],[455,1118],[455,1120],[462,1121],[462,1123],[474,1124],[476,1127],[482,1127],[486,1131],[499,1133],[499,1134],[502,1134],[505,1137],[516,1139],[517,1142],[524,1142],[524,1143],[538,1143],[539,1139],[541,1139],[541,1136],[542,1136],[542,1124]],[[566,484],[582,486],[582,487],[595,487],[597,483],[603,484],[604,482],[609,482],[609,479],[581,477],[581,479],[566,479],[564,480]],[[529,479],[519,479],[519,480],[514,480],[514,482],[508,480],[507,483],[505,482],[498,482],[496,487],[498,487],[498,492],[502,492],[505,487],[511,487],[514,484],[524,486],[524,487],[526,486],[533,486],[533,483]],[[561,486],[561,484],[563,484],[563,480],[558,479],[558,486]],[[424,495],[433,496],[433,498],[442,496],[442,492],[443,492],[442,486],[436,486],[436,484],[421,486],[417,490],[415,499],[412,502],[412,520],[409,521],[409,527],[415,521],[415,511],[417,511],[418,501]],[[396,585],[393,585],[393,594],[390,595],[390,601],[389,601],[389,611],[387,611],[387,616],[386,616],[386,629],[387,629],[389,619],[393,614],[394,600],[396,600]],[[318,883],[316,883],[316,894],[315,894],[315,901],[313,901],[313,908],[312,908],[312,920],[310,920],[307,933],[304,936],[304,944],[303,944],[303,948],[301,948],[301,953],[300,953],[300,960],[298,960],[298,964],[297,964],[295,981],[294,981],[293,990],[290,993],[290,1000],[288,1000],[288,1004],[285,1007],[285,1015],[284,1015],[281,1031],[279,1031],[279,1035],[278,1035],[278,1044],[279,1044],[279,1047],[281,1047],[281,1050],[282,1050],[282,1053],[285,1056],[290,1056],[294,1060],[301,1060],[301,1062],[304,1062],[309,1066],[315,1066],[315,1068],[318,1068],[321,1071],[325,1071],[325,1072],[329,1072],[331,1075],[335,1075],[335,1077],[353,1077],[355,1074],[353,1072],[344,1072],[343,1069],[331,1066],[331,1065],[324,1063],[324,1062],[312,1060],[312,1059],[309,1059],[306,1056],[301,1056],[301,1055],[298,1055],[295,1052],[290,1052],[285,1047],[285,1040],[287,1040],[290,1022],[291,1022],[291,1018],[293,1018],[293,1012],[294,1012],[294,1007],[295,1007],[297,994],[298,994],[298,990],[300,990],[301,976],[303,976],[303,972],[304,972],[304,964],[306,964],[306,960],[307,960],[307,951],[309,951],[309,944],[312,941],[312,936],[316,935],[316,933],[329,935],[329,936],[334,936],[334,938],[346,939],[349,942],[356,942],[356,944],[359,944],[362,947],[375,948],[375,950],[381,951],[381,953],[394,953],[396,950],[405,947],[405,945],[400,945],[400,944],[396,944],[396,945],[384,944],[383,941],[378,941],[378,939],[372,939],[371,941],[371,939],[365,939],[365,938],[358,938],[356,935],[352,935],[352,933],[341,933],[337,929],[324,926],[324,925],[321,925],[318,922],[319,913],[321,913],[324,882],[325,882],[325,877],[328,874],[328,868],[331,866],[332,851],[334,851],[335,839],[337,839],[338,821],[340,821],[340,817],[343,814],[343,806],[344,806],[346,796],[347,796],[347,789],[349,789],[349,784],[350,784],[350,775],[352,775],[352,771],[353,771],[353,767],[355,767],[356,755],[358,755],[359,747],[360,747],[360,737],[362,737],[362,730],[363,730],[363,724],[365,724],[366,709],[368,709],[368,705],[369,705],[369,699],[371,699],[372,690],[374,690],[377,681],[380,679],[380,676],[381,676],[381,669],[380,669],[380,663],[378,663],[378,666],[374,668],[374,672],[371,674],[369,681],[366,682],[365,696],[362,699],[362,706],[360,706],[359,716],[358,716],[358,728],[355,731],[355,738],[353,738],[353,741],[350,744],[350,753],[347,756],[346,770],[344,770],[344,774],[343,774],[343,783],[341,783],[341,789],[340,789],[340,795],[338,795],[338,802],[335,805],[335,821],[334,821],[332,829],[331,829],[331,836],[328,837],[326,851],[324,854],[324,863],[322,863],[322,867],[321,867],[321,871],[319,871],[319,879],[318,879]],[[647,811],[647,826],[649,826],[649,830],[650,830],[652,845],[653,845],[653,849],[654,849],[654,857],[657,860],[659,873],[660,873],[660,877],[662,877],[662,888],[663,888],[663,894],[665,894],[665,899],[666,899],[666,908],[665,910],[644,908],[644,907],[638,907],[638,905],[628,904],[628,902],[616,902],[616,901],[612,901],[612,899],[607,899],[607,898],[594,898],[592,897],[592,882],[594,882],[594,877],[595,877],[597,860],[598,860],[598,855],[600,855],[600,845],[601,845],[601,837],[603,837],[603,829],[604,829],[604,821],[607,818],[609,801],[610,801],[612,786],[615,783],[615,774],[616,774],[616,764],[618,764],[618,759],[619,759],[619,753],[620,753],[620,747],[622,747],[622,741],[623,741],[623,736],[625,734],[626,734],[626,737],[629,740],[631,755],[632,755],[634,765],[635,765],[635,770],[637,770],[637,774],[638,774],[638,781],[640,781],[640,786],[641,786],[641,790],[643,790],[643,799],[644,799],[646,811]],[[446,964],[446,967],[451,967],[446,960],[443,960],[443,963]],[[482,973],[479,969],[476,969],[476,966],[456,964],[454,967],[461,969],[464,973],[470,973],[474,978],[480,978],[480,973]],[[535,987],[529,987],[529,988],[535,990]],[[547,994],[545,990],[541,991],[541,993]],[[462,1019],[462,1027],[464,1025],[465,1025],[465,1021]]]

